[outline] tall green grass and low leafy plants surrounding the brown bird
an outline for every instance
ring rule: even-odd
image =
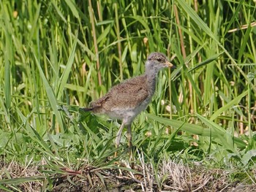
[[[160,51],[177,69],[159,74],[152,103],[132,124],[135,164],[155,173],[166,159],[255,169],[255,9],[230,0],[1,1],[1,161],[39,164],[34,180],[45,190],[64,168],[116,169],[127,160],[126,130],[113,158],[118,122],[78,107],[143,73],[148,53]],[[23,178],[9,174],[0,174],[0,188],[21,190]]]

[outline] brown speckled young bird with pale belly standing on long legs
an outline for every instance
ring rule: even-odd
[[[173,68],[173,64],[167,60],[162,53],[151,53],[146,61],[146,72],[138,77],[125,80],[114,86],[108,93],[97,101],[93,101],[89,108],[94,113],[106,114],[110,118],[122,120],[116,136],[116,147],[121,139],[121,131],[127,126],[127,138],[129,147],[132,146],[131,123],[132,120],[142,111],[145,110],[151,101],[156,88],[157,74],[160,69],[165,67]]]

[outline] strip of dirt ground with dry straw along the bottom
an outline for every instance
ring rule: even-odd
[[[232,171],[189,168],[166,162],[154,172],[150,165],[129,169],[99,169],[84,165],[80,170],[62,169],[56,174],[42,166],[24,167],[12,162],[0,163],[0,191],[256,191],[253,180],[244,173],[230,180]],[[252,170],[256,175],[256,171]],[[232,176],[233,177],[233,176]],[[241,177],[241,180],[238,178]],[[158,179],[156,179],[158,178]]]

